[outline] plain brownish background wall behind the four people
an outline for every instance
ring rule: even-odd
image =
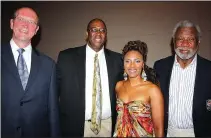
[[[121,52],[130,40],[148,44],[147,64],[171,55],[171,35],[175,24],[184,19],[201,27],[199,54],[211,60],[211,2],[1,2],[1,42],[11,39],[9,20],[21,6],[34,8],[41,29],[33,45],[57,60],[59,51],[85,44],[85,30],[93,18],[102,18],[108,28],[107,47]]]

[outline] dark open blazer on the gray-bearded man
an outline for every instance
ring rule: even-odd
[[[154,69],[164,94],[165,135],[168,128],[168,103],[170,77],[174,56],[158,60]],[[193,95],[193,125],[196,137],[211,136],[211,111],[207,110],[206,100],[211,100],[211,62],[197,55],[196,78]]]

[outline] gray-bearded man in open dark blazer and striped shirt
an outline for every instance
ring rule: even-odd
[[[173,30],[175,55],[154,64],[164,94],[165,134],[211,136],[211,62],[197,54],[201,31],[190,21]]]

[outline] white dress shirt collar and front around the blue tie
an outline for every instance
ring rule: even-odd
[[[18,56],[19,56],[19,53],[18,53],[18,49],[20,49],[16,43],[14,42],[13,39],[10,40],[10,45],[11,45],[11,49],[12,49],[12,53],[13,53],[13,56],[14,56],[14,59],[15,59],[15,64],[17,66],[17,62],[18,62]],[[29,44],[28,46],[26,46],[25,48],[23,48],[25,51],[23,52],[23,58],[26,62],[26,66],[27,66],[27,69],[28,69],[28,72],[30,73],[30,70],[31,70],[31,55],[32,55],[32,46],[31,44]]]

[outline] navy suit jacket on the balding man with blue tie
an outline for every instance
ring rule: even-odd
[[[11,46],[1,47],[2,137],[59,135],[55,62],[32,50],[31,71],[23,90]]]

